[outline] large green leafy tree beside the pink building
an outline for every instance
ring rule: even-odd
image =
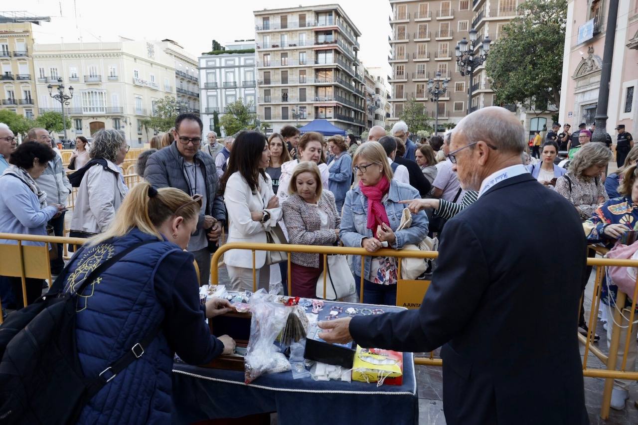
[[[567,0],[527,0],[487,56],[497,103],[538,113],[560,103]]]

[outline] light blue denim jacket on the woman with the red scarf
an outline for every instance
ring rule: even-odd
[[[394,180],[390,182],[390,190],[387,197],[382,200],[385,206],[385,213],[388,214],[390,220],[390,228],[395,232],[396,242],[391,248],[400,250],[406,244],[417,244],[427,236],[427,216],[424,211],[418,214],[412,214],[412,225],[404,230],[396,232],[397,227],[401,223],[401,214],[406,207],[399,204],[400,200],[418,199],[419,191],[409,184],[398,183]],[[353,246],[359,248],[361,241],[365,237],[373,237],[372,230],[367,226],[367,197],[361,193],[359,185],[346,193],[345,204],[343,204],[343,214],[341,216],[341,228],[339,230],[339,239],[343,241],[345,246]],[[366,257],[365,275],[367,280],[373,280],[370,270],[370,264],[373,257]],[[357,276],[361,276],[361,257],[355,255],[352,258],[352,271]]]

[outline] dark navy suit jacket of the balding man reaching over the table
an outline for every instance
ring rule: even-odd
[[[420,309],[355,317],[350,333],[362,347],[443,345],[449,425],[588,424],[577,339],[585,251],[574,206],[530,174],[512,177],[447,222]]]

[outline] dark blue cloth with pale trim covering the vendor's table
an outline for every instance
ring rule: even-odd
[[[346,308],[393,306],[326,303],[320,320],[332,305]],[[342,315],[339,315],[341,317]],[[345,316],[345,313],[343,314]],[[419,398],[412,353],[403,354],[403,384],[293,379],[292,372],[262,375],[244,384],[243,371],[201,368],[175,363],[173,370],[173,422],[188,424],[205,419],[242,417],[277,412],[280,425],[313,424],[417,424]]]

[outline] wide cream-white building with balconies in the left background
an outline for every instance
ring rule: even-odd
[[[73,86],[64,110],[71,118],[70,138],[115,129],[139,147],[154,134],[142,122],[152,116],[156,102],[175,98],[175,61],[158,42],[36,44],[33,64],[40,113],[61,111],[49,96],[49,84],[55,89],[61,79],[67,89]]]

